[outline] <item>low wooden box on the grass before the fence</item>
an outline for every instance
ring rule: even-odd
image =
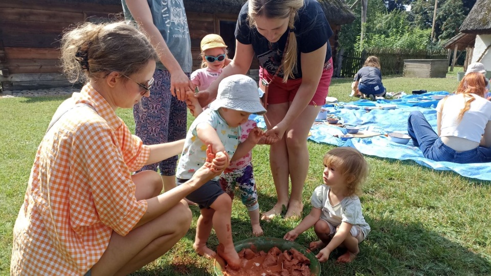
[[[444,78],[449,70],[447,59],[405,59],[404,77]]]

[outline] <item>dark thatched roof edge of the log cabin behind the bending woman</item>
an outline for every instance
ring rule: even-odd
[[[184,0],[186,11],[238,14],[246,0]],[[318,0],[327,21],[334,25],[349,24],[355,17],[342,0]]]

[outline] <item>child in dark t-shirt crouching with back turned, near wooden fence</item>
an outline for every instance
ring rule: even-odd
[[[350,96],[358,96],[362,93],[374,101],[376,96],[385,96],[385,87],[382,84],[380,61],[375,56],[369,56],[363,67],[354,75],[351,87],[358,88]],[[358,94],[358,95],[357,95]]]

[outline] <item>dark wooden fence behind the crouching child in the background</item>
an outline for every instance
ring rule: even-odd
[[[341,66],[336,71],[336,77],[352,78],[363,66],[365,59],[376,56],[382,66],[382,75],[401,75],[404,70],[405,59],[447,59],[447,51],[441,50],[393,50],[393,49],[368,49],[350,50],[341,49],[338,53],[338,64]]]

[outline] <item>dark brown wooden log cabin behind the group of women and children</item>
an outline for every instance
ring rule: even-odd
[[[193,70],[199,68],[199,43],[207,34],[220,34],[235,50],[234,30],[245,0],[182,0],[191,36]],[[319,0],[334,35],[336,55],[341,25],[354,15],[341,0]],[[119,0],[2,0],[0,1],[0,91],[71,86],[59,67],[63,30],[82,21],[123,18]],[[252,69],[258,68],[257,62]]]

